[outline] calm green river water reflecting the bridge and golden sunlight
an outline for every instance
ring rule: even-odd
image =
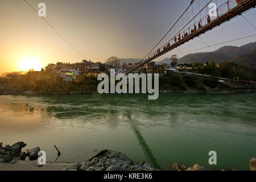
[[[47,161],[82,162],[97,151],[135,162],[249,170],[256,157],[256,93],[0,96],[0,142],[27,143]],[[208,163],[217,152],[217,165]]]

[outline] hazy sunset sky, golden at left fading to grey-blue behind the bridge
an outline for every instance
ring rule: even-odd
[[[92,61],[110,56],[142,58],[188,7],[189,0],[27,0],[36,10],[46,3],[46,20],[74,47]],[[196,0],[197,1],[197,0]],[[200,0],[201,1],[201,0]],[[203,0],[202,0],[203,1]],[[256,26],[256,10],[244,16]],[[32,67],[45,67],[57,61],[82,61],[55,31],[23,0],[0,0],[0,74]],[[242,16],[201,36],[207,44],[255,34]],[[213,51],[226,45],[242,46],[255,42],[256,36],[210,47]],[[159,57],[204,47],[199,39]],[[199,52],[199,51],[197,51]],[[183,56],[183,55],[181,55]],[[32,63],[36,60],[36,63]]]

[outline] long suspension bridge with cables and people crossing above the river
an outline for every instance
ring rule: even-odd
[[[156,46],[126,74],[256,6],[256,0],[206,0],[204,5],[201,2],[203,0],[191,1],[188,8]],[[209,7],[213,8],[209,10]],[[189,20],[189,16],[192,16],[192,19]]]

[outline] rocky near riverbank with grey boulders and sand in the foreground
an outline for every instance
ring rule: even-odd
[[[0,142],[0,171],[160,171],[145,162],[135,163],[125,154],[112,150],[102,150],[86,162],[58,163],[47,162],[47,165],[39,165],[37,162],[40,147],[22,151],[26,143],[17,142],[13,145],[5,145]],[[249,161],[251,171],[256,171],[256,159]],[[195,164],[187,167],[184,164],[172,164],[174,171],[203,171],[204,167]]]

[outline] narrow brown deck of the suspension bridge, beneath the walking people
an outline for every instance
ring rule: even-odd
[[[212,20],[212,22],[205,24],[205,26],[199,28],[195,32],[192,32],[187,37],[181,39],[179,42],[172,44],[170,47],[164,49],[162,52],[156,54],[155,56],[150,57],[150,59],[142,61],[141,63],[135,65],[133,68],[129,69],[128,73],[131,73],[135,71],[135,69],[141,67],[144,64],[149,63],[150,61],[156,59],[159,56],[162,56],[164,53],[167,53],[171,51],[172,49],[181,46],[182,44],[188,42],[189,40],[192,40],[196,38],[197,36],[204,34],[205,32],[212,30],[212,28],[220,26],[220,24],[229,21],[232,18],[235,18],[238,15],[241,15],[243,12],[253,9],[256,6],[256,0],[244,0],[240,3],[240,5],[237,5],[236,7],[233,7],[233,9],[230,9],[225,14],[222,14],[221,16],[218,16],[218,18]]]

